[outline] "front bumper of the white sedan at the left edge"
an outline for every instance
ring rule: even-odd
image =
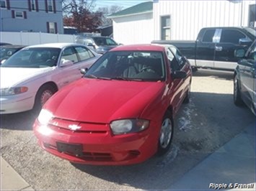
[[[0,97],[0,114],[19,113],[33,108],[35,95],[8,95]]]

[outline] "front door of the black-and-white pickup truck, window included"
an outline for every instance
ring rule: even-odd
[[[238,29],[221,29],[220,40],[215,47],[214,67],[234,70],[239,60],[234,56],[234,50],[246,46],[239,44],[242,39],[249,40],[246,34]]]

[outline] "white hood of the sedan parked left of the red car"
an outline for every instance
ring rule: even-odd
[[[27,67],[0,67],[1,88],[10,88],[18,83],[40,75],[49,70],[53,70],[52,67],[41,67],[41,68],[27,68]]]

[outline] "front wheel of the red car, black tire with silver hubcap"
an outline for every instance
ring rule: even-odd
[[[164,126],[166,126],[166,127],[164,127]],[[158,141],[158,150],[157,150],[157,154],[159,156],[162,156],[169,151],[169,147],[171,146],[172,136],[173,136],[173,132],[174,132],[173,126],[174,126],[174,123],[173,123],[173,119],[172,119],[172,114],[169,111],[167,111],[164,114],[164,118],[162,120],[162,125],[160,127],[161,129],[159,132],[159,141]],[[166,128],[169,129],[169,132],[167,131]],[[168,138],[164,137],[167,135],[168,135]],[[166,139],[166,140],[164,140],[164,139]]]

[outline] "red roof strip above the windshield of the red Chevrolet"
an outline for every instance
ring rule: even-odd
[[[112,51],[164,51],[167,45],[123,45],[115,47]]]

